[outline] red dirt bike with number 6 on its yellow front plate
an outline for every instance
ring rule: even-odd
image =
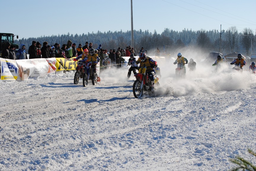
[[[140,67],[139,73],[135,74],[136,77],[135,82],[132,86],[132,92],[135,98],[141,97],[143,95],[143,91],[151,92],[151,81],[146,73],[147,67]],[[159,77],[154,77],[154,84],[158,85]]]

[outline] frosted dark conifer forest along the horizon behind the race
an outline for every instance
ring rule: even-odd
[[[252,39],[252,49],[253,54],[255,54],[254,47],[256,41],[253,36],[254,33],[249,28],[245,28],[243,32],[238,32],[236,27],[230,27],[221,34],[221,52],[223,54],[239,52],[250,56]],[[77,47],[79,43],[84,46],[85,42],[88,41],[93,43],[93,48],[97,48],[101,44],[102,48],[107,50],[117,49],[118,47],[125,49],[128,45],[131,45],[131,31],[98,31],[97,33],[88,32],[82,35],[68,33],[64,35],[41,36],[38,38],[22,38],[15,40],[15,43],[19,45],[25,44],[28,50],[33,40],[41,44],[47,41],[49,45],[59,43],[60,46],[71,40],[72,43],[76,43]],[[186,47],[198,48],[205,53],[219,52],[220,33],[217,30],[192,31],[185,28],[181,32],[166,28],[161,34],[157,33],[156,30],[153,33],[148,32],[148,30],[134,30],[134,48],[138,52],[141,47],[144,47],[148,52],[155,51],[156,48],[159,48],[161,52],[173,53]]]

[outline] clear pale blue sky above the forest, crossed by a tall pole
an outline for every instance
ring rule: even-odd
[[[227,30],[236,26],[256,30],[256,1],[133,0],[133,29],[163,32]],[[130,0],[0,0],[1,32],[19,38],[58,34],[87,34],[131,30]],[[10,4],[12,6],[10,6]]]

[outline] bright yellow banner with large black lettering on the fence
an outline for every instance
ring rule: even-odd
[[[77,61],[73,61],[73,58],[65,59],[65,58],[56,58],[57,62],[55,66],[57,67],[56,71],[62,71],[62,70],[75,70],[77,66]]]

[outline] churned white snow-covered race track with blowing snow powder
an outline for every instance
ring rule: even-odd
[[[161,86],[136,99],[127,69],[101,82],[74,73],[2,82],[0,170],[230,170],[255,163],[255,75],[159,65]]]

